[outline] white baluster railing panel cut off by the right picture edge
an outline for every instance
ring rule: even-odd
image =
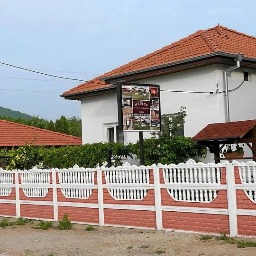
[[[239,167],[239,176],[244,185],[244,192],[251,201],[256,203],[256,162],[239,163],[233,161],[232,163]],[[253,189],[247,189],[246,186],[248,185],[253,185]]]

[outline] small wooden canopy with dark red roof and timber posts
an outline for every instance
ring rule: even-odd
[[[215,163],[228,159],[220,157],[220,151],[226,144],[239,143],[246,144],[253,151],[253,157],[235,159],[253,159],[256,161],[256,120],[209,124],[192,137],[192,140],[207,146],[210,152],[214,153]]]

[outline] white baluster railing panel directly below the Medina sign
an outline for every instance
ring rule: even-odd
[[[125,163],[123,166],[104,168],[106,184],[115,186],[108,188],[110,195],[116,200],[142,200],[148,193],[147,187],[150,180],[152,166],[131,166]],[[116,187],[117,186],[117,187]],[[130,188],[124,188],[130,186]]]

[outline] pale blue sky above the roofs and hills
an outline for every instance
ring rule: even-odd
[[[89,80],[217,23],[255,35],[255,9],[255,0],[1,0],[0,62]],[[0,106],[80,116],[80,102],[59,97],[78,84],[0,65]]]

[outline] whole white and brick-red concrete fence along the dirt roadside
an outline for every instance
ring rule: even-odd
[[[68,212],[77,223],[142,227],[144,221],[158,230],[191,225],[192,231],[221,233],[221,227],[230,236],[256,236],[247,223],[256,223],[256,163],[0,169],[0,212],[55,221]]]

